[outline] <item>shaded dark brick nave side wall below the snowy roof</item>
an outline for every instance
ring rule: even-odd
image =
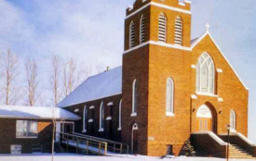
[[[118,129],[118,120],[119,120],[118,119],[119,118],[119,103],[120,103],[121,98],[122,98],[121,94],[117,94],[117,95],[102,98],[99,100],[89,101],[84,104],[72,105],[72,106],[66,107],[64,109],[67,109],[73,113],[74,113],[75,109],[79,109],[79,112],[75,113],[75,114],[78,115],[79,117],[81,117],[81,119],[78,121],[74,121],[74,131],[75,132],[120,142],[121,141],[121,131],[117,130],[117,129]],[[104,108],[105,109],[104,131],[99,131],[101,102],[103,102],[104,106],[105,106],[105,108]],[[110,102],[113,102],[114,105],[108,106],[107,104]],[[83,113],[84,113],[85,105],[87,106],[87,109],[88,109],[88,119],[93,119],[93,122],[88,123],[87,132],[82,132],[83,131],[83,118],[84,118]],[[94,105],[94,109],[89,109],[89,107],[91,105]],[[111,117],[111,108],[113,108],[112,120],[106,120],[107,117]],[[122,108],[122,109],[124,109],[124,108]],[[87,120],[87,122],[88,122],[88,120]],[[111,124],[112,124],[112,128],[110,128]]]

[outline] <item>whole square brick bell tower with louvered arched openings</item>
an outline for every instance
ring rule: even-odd
[[[190,100],[184,99],[190,97],[190,7],[187,0],[136,0],[127,8],[121,133],[122,142],[141,155],[167,155],[163,149],[167,152],[169,145],[178,155],[190,136],[190,116],[183,115],[190,114]],[[166,110],[169,79],[175,88],[171,115]]]

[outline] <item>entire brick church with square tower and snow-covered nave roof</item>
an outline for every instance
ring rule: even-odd
[[[187,0],[129,6],[122,67],[88,78],[59,104],[82,118],[74,131],[128,143],[141,155],[179,155],[196,134],[222,144],[227,125],[247,140],[249,89],[209,25],[191,39],[191,18]]]

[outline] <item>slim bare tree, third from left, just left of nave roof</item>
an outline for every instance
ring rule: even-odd
[[[59,101],[61,100],[61,57],[60,56],[52,56],[51,59],[51,68],[52,68],[52,75],[51,75],[51,88],[52,93],[54,95],[54,105],[58,105]]]

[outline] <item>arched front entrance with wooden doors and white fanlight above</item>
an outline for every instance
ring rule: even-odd
[[[201,105],[196,112],[196,130],[197,131],[213,131],[214,115],[208,105]]]

